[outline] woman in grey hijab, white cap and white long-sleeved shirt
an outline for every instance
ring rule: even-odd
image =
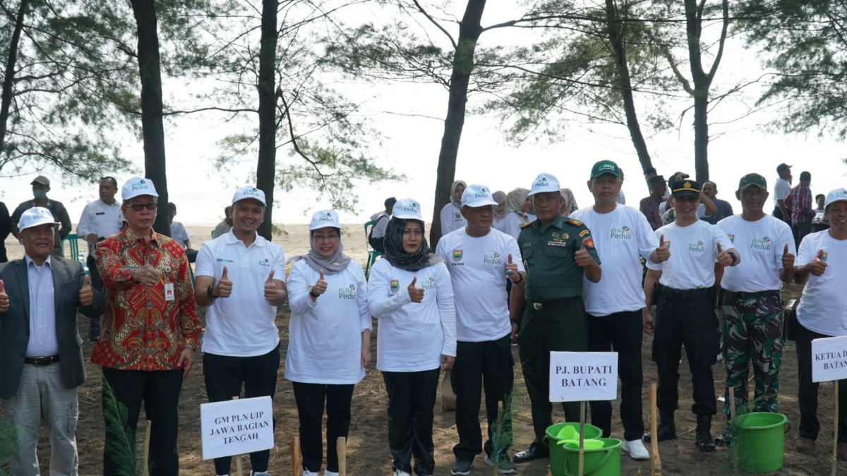
[[[353,385],[370,362],[371,313],[362,265],[344,254],[334,210],[309,225],[311,249],[289,262],[291,321],[285,379],[294,386],[300,416],[303,475],[317,476],[324,458],[321,427],[327,416],[325,476],[338,476],[335,442],[347,437]],[[299,475],[297,475],[299,476]]]

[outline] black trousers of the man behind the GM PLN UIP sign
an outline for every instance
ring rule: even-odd
[[[209,402],[228,401],[241,395],[244,384],[244,397],[270,396],[274,399],[276,374],[280,369],[280,346],[273,351],[256,357],[230,357],[216,354],[203,354],[203,377],[206,379],[206,393]],[[276,427],[276,418],[274,418]],[[250,453],[250,466],[254,472],[268,471],[270,450]],[[232,457],[214,459],[214,470],[218,474],[229,474]]]

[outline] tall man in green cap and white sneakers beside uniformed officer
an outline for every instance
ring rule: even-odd
[[[584,280],[583,299],[588,313],[588,350],[617,352],[617,374],[621,378],[621,420],[623,451],[630,457],[648,459],[641,442],[644,419],[641,415],[641,341],[644,335],[641,311],[645,307],[641,288],[641,257],[662,263],[670,257],[659,246],[650,223],[637,208],[617,203],[621,189],[620,169],[611,160],[601,160],[591,169],[588,188],[594,205],[571,213],[591,230],[597,253],[606,263],[615,263],[614,273],[601,280]],[[612,402],[591,401],[591,423],[608,438],[612,431]]]

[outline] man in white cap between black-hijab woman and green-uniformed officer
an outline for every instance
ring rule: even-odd
[[[462,217],[468,224],[441,237],[435,254],[447,263],[457,315],[456,363],[451,385],[456,393],[456,428],[459,443],[453,447],[452,474],[470,474],[473,459],[484,449],[485,463],[500,473],[516,473],[508,456],[510,442],[500,441],[494,454],[492,433],[501,401],[507,401],[514,380],[512,335],[517,325],[509,320],[506,280],[525,278],[518,242],[491,228],[494,207],[490,189],[470,185],[462,192]],[[479,428],[479,399],[485,387],[488,437],[483,448]],[[511,418],[504,418],[499,438],[512,433]]]

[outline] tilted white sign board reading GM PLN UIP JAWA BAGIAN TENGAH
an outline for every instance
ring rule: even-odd
[[[200,406],[203,459],[232,457],[274,447],[274,411],[269,396]]]

